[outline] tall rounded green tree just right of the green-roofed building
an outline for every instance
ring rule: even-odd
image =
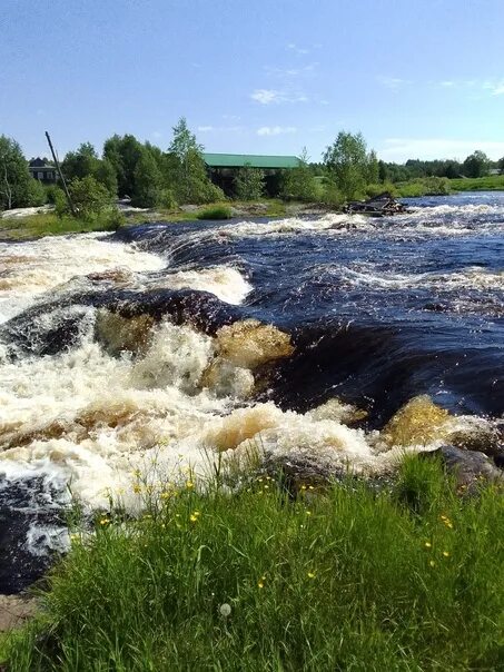
[[[340,131],[324,155],[324,162],[346,199],[364,195],[369,177],[378,179],[378,165],[374,152],[367,154],[362,134]]]

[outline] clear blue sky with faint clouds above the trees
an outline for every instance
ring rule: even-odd
[[[0,0],[0,135],[28,158],[185,116],[206,151],[504,156],[504,0]]]

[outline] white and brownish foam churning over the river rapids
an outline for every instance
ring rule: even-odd
[[[309,221],[243,223],[221,231],[339,231],[348,220],[330,215]],[[367,226],[363,218],[358,221]],[[6,267],[0,276],[6,280],[0,286],[3,319],[37,297],[96,285],[103,291],[115,286],[188,287],[235,304],[251,289],[231,267],[161,276],[157,271],[166,263],[160,257],[93,235],[1,246],[0,255]],[[471,273],[481,275],[478,269]],[[467,281],[463,275],[456,281]],[[411,276],[385,278],[386,286],[412,281]],[[424,276],[417,281],[427,280]],[[61,308],[40,319],[48,323],[45,327],[51,320],[56,327],[72,310]],[[384,449],[375,433],[347,426],[348,405],[333,401],[303,415],[254,402],[255,386],[267,384],[258,378],[259,367],[291,353],[286,334],[254,320],[223,327],[213,337],[168,319],[156,324],[149,316],[127,319],[103,308],[86,308],[71,349],[16,360],[0,357],[0,474],[10,481],[45,475],[69,485],[89,507],[107,506],[112,495],[129,511],[138,511],[142,498],[136,492],[137,472],[156,483],[180,482],[192,474],[206,480],[217,464],[245,461],[251,449],[284,461],[323,463],[328,470],[388,470],[404,448]]]

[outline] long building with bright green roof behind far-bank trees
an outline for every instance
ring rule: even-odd
[[[228,196],[234,191],[234,179],[239,168],[250,166],[265,174],[268,196],[277,196],[283,170],[297,168],[299,159],[294,156],[261,156],[257,154],[204,154],[211,181]]]

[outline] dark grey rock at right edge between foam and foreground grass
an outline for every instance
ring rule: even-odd
[[[458,490],[474,492],[482,483],[504,486],[504,473],[478,451],[464,451],[445,445],[437,451],[422,453],[421,456],[425,459],[441,457],[445,470],[455,476]]]

